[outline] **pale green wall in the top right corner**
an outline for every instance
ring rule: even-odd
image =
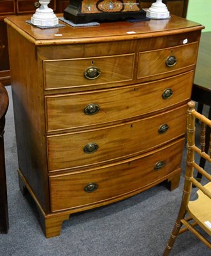
[[[211,31],[211,1],[189,0],[187,19],[196,21],[205,26],[202,32]]]

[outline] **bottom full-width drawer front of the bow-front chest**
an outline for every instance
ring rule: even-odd
[[[52,211],[74,209],[139,193],[180,167],[184,140],[136,159],[95,170],[50,177]]]

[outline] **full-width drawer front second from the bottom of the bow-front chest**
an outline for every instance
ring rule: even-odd
[[[182,136],[186,105],[125,124],[47,136],[48,170],[81,168],[116,161]]]

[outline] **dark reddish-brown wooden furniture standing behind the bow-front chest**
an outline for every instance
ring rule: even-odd
[[[156,0],[142,0],[142,8],[149,8]],[[168,10],[173,15],[186,17],[188,0],[163,0]],[[69,0],[50,0],[49,7],[55,13],[63,13],[68,6]],[[10,84],[10,63],[8,56],[8,41],[6,24],[3,20],[10,15],[25,15],[34,13],[40,4],[36,0],[1,0],[0,1],[0,81],[4,84]]]

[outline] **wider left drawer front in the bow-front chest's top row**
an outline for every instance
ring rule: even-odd
[[[44,61],[45,88],[86,88],[133,79],[135,54]]]

